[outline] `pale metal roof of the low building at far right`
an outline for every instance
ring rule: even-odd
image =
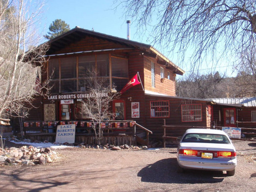
[[[241,104],[243,106],[256,106],[256,97],[212,98],[211,100],[222,104]]]

